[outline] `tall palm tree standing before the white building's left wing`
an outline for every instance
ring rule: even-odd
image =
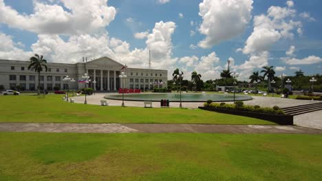
[[[38,93],[40,90],[40,75],[43,71],[43,67],[45,67],[45,71],[47,71],[47,60],[43,59],[43,56],[34,54],[34,56],[30,58],[28,70],[33,69],[35,72],[38,73]]]

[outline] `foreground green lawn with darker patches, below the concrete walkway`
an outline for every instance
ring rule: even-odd
[[[321,180],[322,136],[0,132],[0,180]]]

